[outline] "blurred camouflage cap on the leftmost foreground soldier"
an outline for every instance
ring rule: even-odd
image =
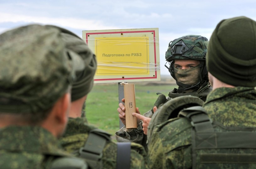
[[[44,111],[68,91],[84,62],[65,47],[62,32],[28,25],[0,35],[0,112]]]

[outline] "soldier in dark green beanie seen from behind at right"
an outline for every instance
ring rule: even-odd
[[[173,99],[157,110],[148,131],[150,168],[256,167],[255,30],[248,17],[218,23],[206,55],[213,91],[204,109],[190,107],[161,120],[179,108],[166,106],[178,101]]]

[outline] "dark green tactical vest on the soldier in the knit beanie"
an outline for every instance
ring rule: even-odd
[[[212,122],[203,107],[178,114],[193,126],[192,168],[256,168],[256,128],[225,127]]]

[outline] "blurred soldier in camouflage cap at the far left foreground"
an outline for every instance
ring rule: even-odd
[[[87,168],[57,142],[68,122],[82,59],[62,29],[28,25],[0,35],[0,168]]]

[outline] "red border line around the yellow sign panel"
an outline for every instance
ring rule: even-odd
[[[154,56],[155,56],[155,67],[156,67],[156,51],[155,51],[155,31],[120,31],[120,32],[95,32],[95,33],[86,33],[86,43],[88,44],[88,35],[94,34],[111,34],[111,33],[143,33],[143,32],[153,32],[154,37]],[[155,69],[155,76],[154,77],[130,77],[130,78],[107,78],[107,79],[94,79],[94,81],[105,81],[105,80],[132,80],[132,79],[156,79],[157,72]]]

